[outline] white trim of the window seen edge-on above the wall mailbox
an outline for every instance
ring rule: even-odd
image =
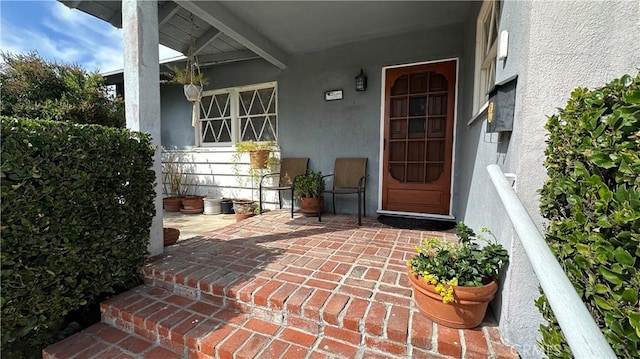
[[[487,108],[488,101],[486,99],[486,96],[487,96],[486,92],[491,89],[491,85],[489,84],[487,76],[492,76],[493,77],[492,84],[495,84],[495,76],[496,76],[495,72],[497,69],[497,62],[498,62],[498,58],[497,58],[498,36],[496,36],[495,39],[493,39],[494,40],[493,43],[489,43],[490,39],[487,38],[488,35],[485,33],[484,24],[487,21],[489,21],[490,22],[489,33],[495,32],[496,35],[498,34],[498,29],[495,29],[495,30],[492,29],[492,26],[493,26],[492,18],[494,16],[500,15],[500,14],[494,13],[495,11],[500,11],[500,9],[496,8],[496,3],[498,3],[498,0],[484,0],[482,2],[482,7],[480,8],[480,11],[478,13],[478,18],[476,21],[476,59],[475,59],[475,75],[474,75],[474,81],[473,81],[474,83],[473,112],[472,112],[473,116],[471,120],[467,123],[468,125],[471,125],[478,118],[481,118],[482,114],[485,112]],[[496,22],[497,22],[496,25],[499,25],[499,20]],[[485,54],[484,50],[486,48],[488,48],[488,51]],[[491,69],[491,66],[489,64],[490,61],[493,62],[493,73],[489,72],[487,74],[484,69],[487,66],[489,67],[489,70]]]

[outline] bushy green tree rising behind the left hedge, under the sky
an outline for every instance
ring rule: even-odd
[[[3,115],[124,127],[124,100],[97,72],[47,61],[37,52],[0,56]]]

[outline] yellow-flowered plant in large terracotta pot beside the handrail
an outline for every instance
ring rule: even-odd
[[[488,228],[482,232],[491,234]],[[436,323],[474,328],[484,319],[498,290],[497,277],[509,254],[460,222],[458,242],[426,238],[407,262],[418,309]],[[495,238],[494,238],[495,239]],[[477,241],[486,244],[480,246]]]

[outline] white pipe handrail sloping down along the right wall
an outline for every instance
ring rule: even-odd
[[[574,357],[616,358],[500,167],[489,165],[487,171]]]

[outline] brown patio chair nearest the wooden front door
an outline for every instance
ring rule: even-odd
[[[331,193],[333,214],[336,214],[336,195],[358,195],[358,225],[362,225],[362,216],[366,217],[367,158],[336,158],[333,173],[323,176],[333,177],[333,184],[324,193]]]

